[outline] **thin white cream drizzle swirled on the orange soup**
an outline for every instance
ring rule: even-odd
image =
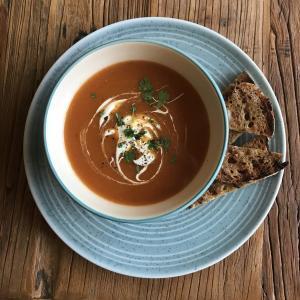
[[[165,86],[161,87],[157,91],[163,89]],[[139,92],[129,92],[129,93],[122,93],[113,97],[110,97],[106,99],[96,110],[94,115],[92,116],[91,120],[89,121],[88,125],[83,128],[80,132],[80,144],[82,151],[85,155],[85,158],[87,159],[90,167],[97,173],[102,174],[106,178],[113,180],[115,182],[118,182],[120,184],[126,184],[126,185],[140,185],[140,184],[146,184],[150,181],[152,181],[160,172],[163,161],[164,161],[164,151],[160,147],[159,151],[149,150],[147,142],[151,139],[158,138],[159,137],[159,131],[161,131],[161,125],[158,123],[158,121],[154,118],[150,118],[144,114],[136,114],[134,116],[127,115],[123,118],[124,125],[122,126],[116,126],[115,128],[108,128],[105,129],[106,124],[110,121],[112,115],[114,116],[117,112],[118,108],[123,105],[124,103],[128,101],[132,101],[134,99],[137,99],[140,97]],[[167,104],[172,103],[178,99],[180,99],[184,94],[180,94],[171,101],[169,101]],[[155,99],[154,99],[155,101]],[[100,168],[96,166],[96,164],[93,162],[90,152],[87,147],[87,140],[86,136],[88,133],[88,130],[92,123],[94,122],[95,118],[98,117],[98,115],[101,113],[99,117],[98,127],[99,127],[99,133],[102,135],[101,137],[101,151],[104,154],[104,157],[106,159],[106,162],[108,163],[108,166],[118,175],[119,178],[113,178],[107,174],[105,174]],[[152,114],[161,114],[166,115],[169,117],[174,134],[176,136],[176,145],[178,145],[178,133],[176,130],[176,126],[174,123],[173,116],[169,112],[166,105],[163,105],[159,109],[155,109],[151,111]],[[151,122],[152,120],[152,122]],[[163,122],[164,123],[164,122]],[[124,135],[124,130],[127,128],[127,126],[130,126],[135,133],[138,133],[140,130],[144,130],[145,134],[142,136],[139,140],[135,140],[134,138],[127,138]],[[105,140],[108,136],[114,135],[117,137],[117,143],[116,143],[116,150],[115,150],[115,156],[109,157],[106,150],[105,150]],[[121,146],[119,146],[121,145]],[[133,163],[136,166],[139,166],[141,169],[136,174],[135,178],[129,178],[123,171],[122,168],[122,161],[124,160],[124,152],[130,150],[131,147],[135,147],[140,154],[138,158],[133,160]],[[145,174],[148,170],[148,167],[157,159],[160,158],[160,162],[154,172],[154,174],[149,179],[142,179],[141,176]]]

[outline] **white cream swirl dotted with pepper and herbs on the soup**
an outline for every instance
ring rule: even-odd
[[[168,103],[180,99],[183,94],[178,95]],[[96,172],[101,173],[103,176],[116,181],[121,184],[127,185],[140,185],[152,181],[160,172],[163,165],[165,153],[163,147],[159,145],[157,149],[149,147],[149,141],[157,140],[161,137],[162,126],[165,124],[163,118],[171,122],[173,136],[175,136],[175,143],[178,143],[178,134],[174,119],[169,112],[166,105],[160,108],[150,110],[149,113],[132,113],[124,116],[121,123],[112,122],[115,114],[125,103],[134,103],[141,101],[140,93],[130,92],[122,93],[114,97],[106,99],[96,110],[88,125],[80,132],[80,143],[82,151],[90,165]],[[153,99],[155,100],[155,99]],[[155,117],[161,116],[159,120]],[[101,139],[101,151],[105,157],[108,166],[113,170],[116,176],[105,174],[101,168],[97,167],[92,160],[87,145],[87,133],[90,126],[98,119],[98,130]],[[130,134],[126,134],[126,130],[130,130]],[[113,137],[115,140],[114,155],[109,154],[107,151],[106,143],[108,137]],[[177,145],[176,145],[177,146]],[[132,159],[132,163],[138,169],[135,176],[130,176],[126,172],[126,153],[134,149],[136,155]],[[155,161],[159,160],[156,164]],[[150,165],[154,165],[149,171]],[[149,173],[148,176],[145,176]]]

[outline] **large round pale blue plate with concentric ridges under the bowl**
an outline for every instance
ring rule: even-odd
[[[106,43],[139,39],[183,51],[223,89],[246,70],[270,97],[276,130],[270,146],[285,154],[282,115],[262,72],[237,46],[205,27],[166,18],[123,21],[79,41],[54,64],[32,101],[25,129],[28,183],[44,218],[74,251],[106,269],[137,277],[172,277],[208,267],[240,247],[269,212],[282,172],[196,209],[147,223],[118,223],[99,217],[72,200],[53,176],[43,146],[43,118],[53,87],[78,58]]]

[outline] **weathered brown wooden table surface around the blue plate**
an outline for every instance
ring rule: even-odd
[[[300,1],[0,0],[0,299],[300,299]],[[51,231],[24,173],[23,131],[44,74],[89,32],[143,16],[205,25],[241,47],[280,102],[289,167],[264,224],[197,273],[139,279],[97,267]]]

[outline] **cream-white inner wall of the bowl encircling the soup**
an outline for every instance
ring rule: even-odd
[[[66,114],[80,86],[100,70],[130,60],[156,62],[180,73],[201,96],[210,123],[208,151],[194,179],[176,195],[159,203],[142,206],[118,204],[89,189],[73,170],[64,142]],[[183,209],[201,197],[221,168],[227,148],[228,131],[227,111],[222,94],[216,83],[197,62],[166,45],[120,41],[87,53],[62,76],[53,90],[46,109],[44,143],[57,180],[74,200],[101,216],[120,221],[136,221],[149,220]]]

